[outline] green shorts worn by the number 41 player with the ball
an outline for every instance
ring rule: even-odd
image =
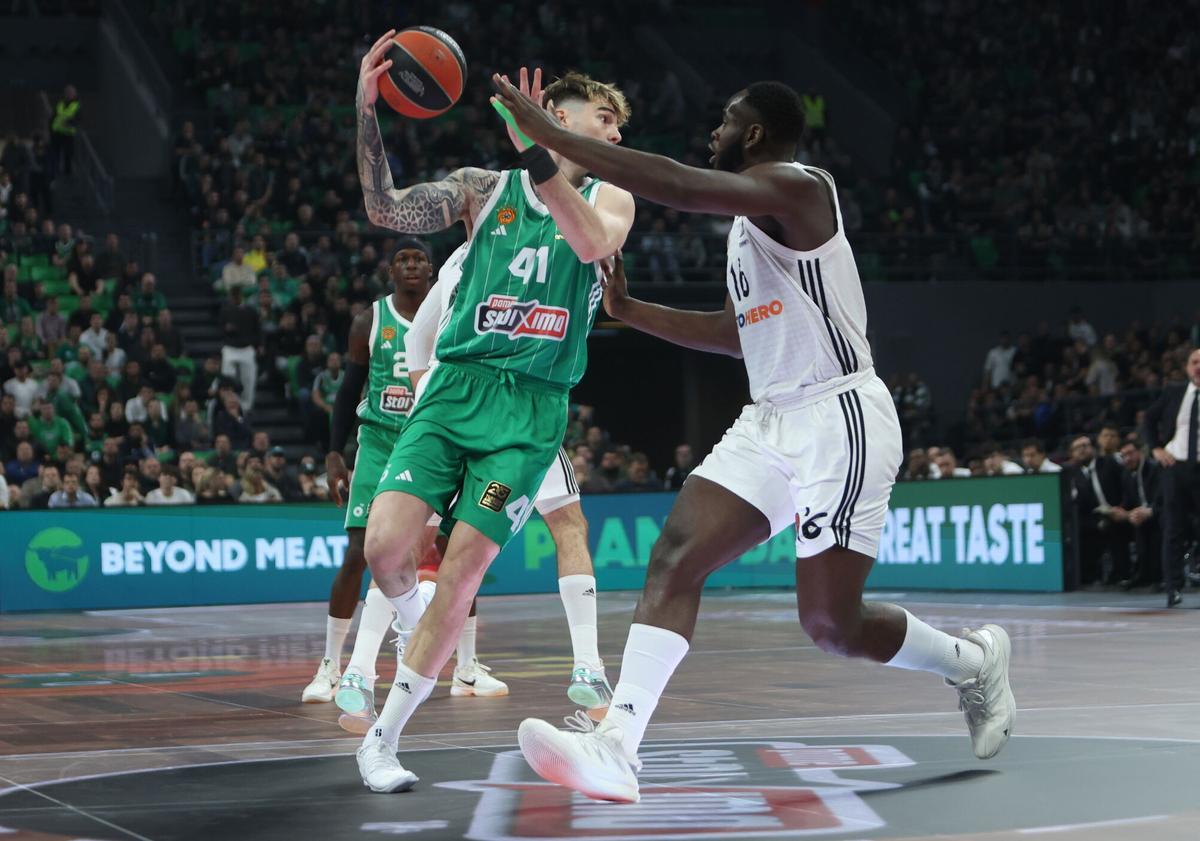
[[[566,391],[464,361],[442,362],[427,377],[376,494],[424,499],[444,521],[470,523],[503,548],[558,457]]]

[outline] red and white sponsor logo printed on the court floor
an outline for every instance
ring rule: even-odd
[[[497,755],[486,780],[437,786],[481,794],[470,837],[482,841],[859,837],[886,825],[859,792],[901,786],[839,771],[914,764],[890,745],[766,740],[650,744],[638,758],[641,803],[616,807],[542,782],[520,751]]]

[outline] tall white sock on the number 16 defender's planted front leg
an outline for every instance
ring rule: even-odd
[[[612,693],[605,717],[620,729],[622,744],[630,759],[646,735],[654,708],[679,661],[688,654],[688,641],[674,631],[653,625],[632,624],[620,661],[620,680]]]

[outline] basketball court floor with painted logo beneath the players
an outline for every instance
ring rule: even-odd
[[[1200,611],[876,595],[1008,629],[1019,713],[996,759],[936,678],[816,650],[788,594],[713,593],[637,805],[547,786],[516,751],[523,717],[572,711],[557,596],[481,600],[480,659],[511,693],[452,698],[445,672],[401,741],[404,794],[364,788],[337,710],[299,703],[323,605],[4,615],[0,839],[1200,839]],[[612,675],[635,597],[601,594]],[[394,668],[385,647],[380,705]]]

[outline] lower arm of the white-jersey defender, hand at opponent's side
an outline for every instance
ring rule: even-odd
[[[604,307],[613,318],[672,344],[742,358],[737,314],[728,295],[725,296],[725,308],[716,312],[672,310],[630,298],[620,253],[613,257],[611,266],[607,262],[600,265],[605,275]]]

